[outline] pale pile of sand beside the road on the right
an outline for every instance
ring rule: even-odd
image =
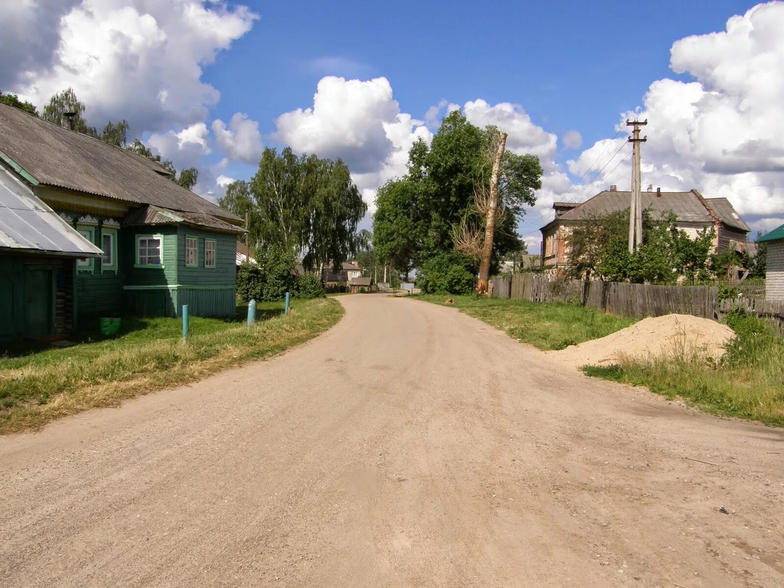
[[[575,366],[610,365],[626,357],[691,354],[695,350],[719,359],[724,345],[735,336],[727,325],[691,314],[667,314],[646,318],[601,339],[593,339],[549,353]]]

